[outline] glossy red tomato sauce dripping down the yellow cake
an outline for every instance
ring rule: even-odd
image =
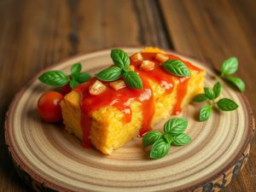
[[[137,101],[142,103],[143,110],[143,126],[139,133],[143,136],[144,133],[151,131],[151,122],[154,117],[154,93],[148,82],[148,79],[160,84],[166,90],[166,94],[171,94],[175,86],[175,79],[178,81],[177,84],[177,102],[172,110],[173,114],[181,112],[181,105],[184,96],[187,94],[189,77],[178,78],[170,73],[167,73],[160,62],[155,60],[156,53],[142,53],[143,60],[154,61],[154,69],[152,71],[140,70],[142,61],[132,61],[131,65],[135,67],[135,71],[139,73],[140,78],[143,81],[143,89],[131,89],[129,87],[122,88],[120,90],[113,90],[109,82],[103,82],[106,86],[100,95],[93,96],[90,95],[89,88],[91,84],[94,84],[96,78],[90,79],[86,84],[80,84],[74,90],[76,90],[80,95],[80,108],[81,108],[81,127],[83,130],[83,147],[90,147],[90,127],[91,127],[91,114],[106,106],[113,106],[117,108],[124,114],[124,123],[131,122],[132,112],[131,112],[131,102]],[[167,55],[170,60],[181,60],[175,55]],[[190,70],[201,71],[201,69],[191,65],[188,61],[183,61],[183,63],[189,67]]]

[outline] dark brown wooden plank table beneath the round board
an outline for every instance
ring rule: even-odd
[[[254,0],[0,0],[0,191],[29,190],[4,145],[4,115],[15,93],[44,67],[113,46],[159,46],[219,68],[235,55],[256,113]],[[256,142],[224,191],[256,191]]]

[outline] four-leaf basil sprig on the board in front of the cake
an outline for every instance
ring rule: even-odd
[[[143,147],[152,145],[150,150],[151,159],[160,159],[170,151],[171,145],[186,145],[191,142],[188,134],[184,133],[188,126],[188,120],[184,118],[173,118],[166,121],[164,134],[160,131],[148,131],[143,136]]]

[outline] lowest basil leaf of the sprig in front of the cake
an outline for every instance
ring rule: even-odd
[[[171,145],[166,143],[163,138],[160,138],[154,142],[150,150],[150,158],[154,160],[160,159],[168,154],[170,148]]]

